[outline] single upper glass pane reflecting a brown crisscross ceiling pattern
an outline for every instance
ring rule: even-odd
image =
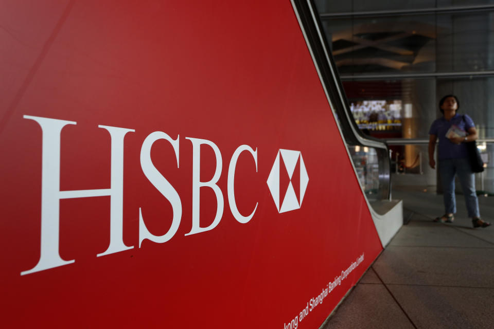
[[[435,70],[434,14],[327,19],[324,26],[340,74]]]

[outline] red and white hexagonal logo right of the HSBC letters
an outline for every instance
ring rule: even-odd
[[[280,158],[283,159],[283,169],[280,166]],[[299,209],[302,206],[308,182],[309,176],[307,175],[302,153],[300,151],[280,149],[267,181],[279,213]],[[283,202],[280,202],[282,200],[280,191],[284,192]]]

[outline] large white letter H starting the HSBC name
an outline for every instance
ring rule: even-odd
[[[110,245],[99,256],[132,249],[123,244],[123,138],[133,129],[98,125],[112,140],[111,187],[98,190],[60,191],[60,134],[74,121],[24,116],[39,123],[43,132],[41,178],[41,249],[38,264],[21,275],[74,263],[64,261],[59,253],[60,200],[91,196],[110,196]]]

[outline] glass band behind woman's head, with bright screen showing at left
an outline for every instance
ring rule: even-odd
[[[454,93],[460,114],[468,114],[481,138],[494,137],[494,77],[344,81],[350,111],[359,128],[375,138],[428,138],[442,116],[438,101]]]

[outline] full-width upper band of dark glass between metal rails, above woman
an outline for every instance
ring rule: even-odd
[[[342,75],[494,69],[494,8],[323,20]]]

